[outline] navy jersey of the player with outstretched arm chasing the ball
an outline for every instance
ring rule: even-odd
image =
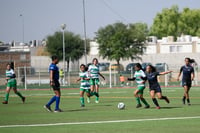
[[[149,81],[149,88],[160,88],[160,85],[158,83],[157,76],[160,75],[159,72],[153,72],[153,73],[146,73],[147,80]]]

